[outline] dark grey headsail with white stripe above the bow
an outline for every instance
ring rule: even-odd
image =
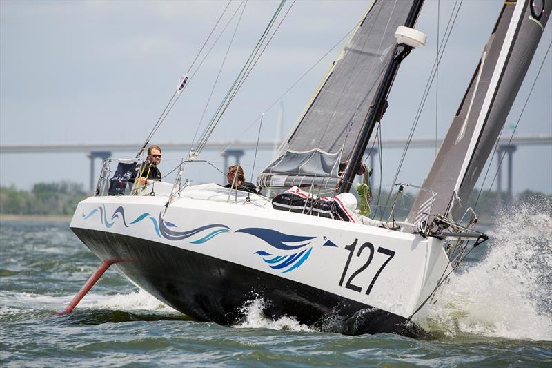
[[[544,8],[544,9],[543,9]],[[462,215],[506,122],[550,15],[552,1],[506,1],[408,222]],[[457,218],[457,220],[460,220]]]

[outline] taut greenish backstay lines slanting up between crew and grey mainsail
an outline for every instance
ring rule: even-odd
[[[221,104],[219,105],[219,108],[217,109],[215,115],[213,115],[213,118],[211,119],[210,123],[208,124],[206,130],[204,130],[204,133],[201,135],[201,138],[199,139],[199,143],[197,145],[197,148],[195,150],[190,151],[190,158],[197,157],[199,153],[201,153],[201,150],[204,148],[205,144],[207,143],[210,135],[213,133],[213,130],[217,123],[220,121],[222,115],[226,111],[226,108],[230,105],[230,102],[232,101],[233,97],[235,96],[235,93],[237,93],[237,90],[239,90],[239,87],[241,87],[240,81],[245,80],[245,75],[248,69],[251,67],[251,64],[253,64],[253,60],[255,57],[259,54],[259,50],[262,47],[262,44],[266,40],[266,37],[268,36],[270,30],[273,28],[274,23],[279,15],[279,13],[282,11],[282,8],[284,8],[284,4],[286,3],[286,0],[282,0],[273,14],[272,19],[268,22],[268,25],[266,26],[266,29],[264,30],[262,36],[260,37],[259,41],[257,42],[257,45],[255,45],[255,48],[253,48],[253,51],[251,52],[249,58],[246,61],[246,64],[242,68],[242,70],[239,72],[237,78],[235,79],[232,86],[230,86],[230,90],[228,90],[228,93],[226,93],[226,96],[224,97],[223,101],[221,101]],[[293,4],[292,4],[293,5]],[[287,14],[287,13],[286,13]],[[285,18],[285,16],[284,16]],[[259,55],[260,57],[260,55]]]

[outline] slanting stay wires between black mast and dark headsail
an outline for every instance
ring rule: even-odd
[[[408,152],[408,148],[410,148],[410,144],[412,142],[412,137],[414,135],[416,126],[418,122],[420,122],[420,117],[422,115],[422,110],[424,109],[424,106],[426,104],[427,97],[429,95],[429,90],[431,86],[433,85],[433,79],[435,79],[435,70],[437,69],[437,65],[440,63],[443,55],[444,50],[446,49],[446,45],[449,43],[449,37],[451,37],[452,30],[454,28],[454,25],[456,23],[456,19],[458,17],[458,13],[460,12],[460,7],[462,6],[462,1],[460,0],[460,5],[458,5],[458,8],[456,8],[456,4],[459,0],[456,0],[454,3],[453,10],[451,12],[451,17],[449,17],[449,23],[446,25],[446,29],[444,31],[443,41],[441,43],[444,43],[443,47],[441,48],[441,55],[438,58],[435,58],[433,61],[433,67],[431,68],[431,72],[429,73],[428,81],[426,82],[426,88],[424,89],[424,93],[422,93],[422,99],[420,100],[420,104],[418,105],[417,112],[414,117],[414,121],[412,124],[412,128],[410,133],[408,134],[408,138],[406,139],[406,145],[404,146],[404,150],[402,151],[402,156],[399,161],[399,166],[397,167],[397,172],[395,173],[395,178],[393,179],[393,183],[397,182],[397,178],[399,177],[400,171],[402,169],[402,164],[404,164],[404,159],[406,157],[406,153]],[[451,23],[452,21],[452,23]],[[450,26],[450,29],[449,29]],[[439,43],[439,40],[437,39],[437,43]],[[389,191],[387,195],[387,199],[385,202],[385,206],[388,206],[389,200],[391,199],[391,191]],[[377,209],[376,209],[377,211]],[[381,220],[381,219],[380,219]]]

